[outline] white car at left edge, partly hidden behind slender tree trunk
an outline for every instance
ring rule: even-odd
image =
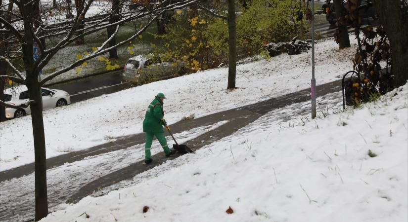
[[[43,110],[71,104],[71,98],[65,91],[59,89],[41,88],[41,93],[43,94]],[[19,106],[29,101],[28,89],[25,85],[5,89],[4,96],[4,102],[14,106]],[[10,107],[5,108],[6,118],[18,118],[30,113],[30,106],[19,109]]]

